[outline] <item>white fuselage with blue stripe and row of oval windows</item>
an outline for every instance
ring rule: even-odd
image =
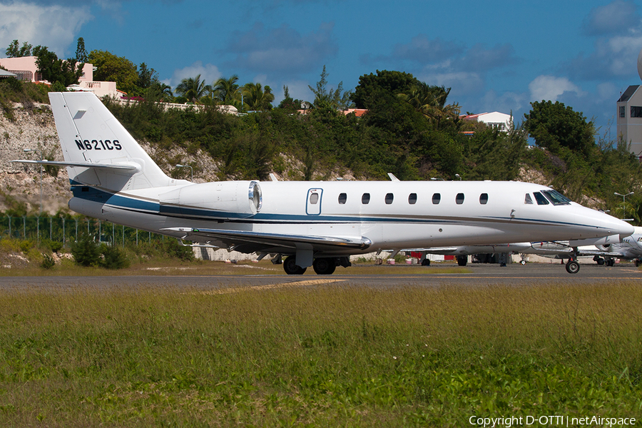
[[[576,203],[526,204],[526,193],[547,189],[531,183],[272,181],[259,184],[263,196],[260,210],[248,215],[236,216],[235,213],[218,210],[215,203],[208,204],[208,198],[217,198],[212,183],[184,186],[184,189],[190,187],[190,194],[198,194],[202,188],[202,200],[193,204],[189,200],[183,201],[179,215],[161,213],[161,206],[165,206],[162,205],[163,193],[175,192],[175,186],[101,193],[96,188],[83,192],[79,185],[74,189],[75,198],[70,201],[70,208],[78,213],[177,238],[180,238],[180,233],[166,229],[215,228],[367,238],[371,243],[361,250],[338,248],[324,255],[367,253],[378,249],[626,236],[632,232],[631,226],[621,220]],[[240,191],[237,198],[239,201],[235,203],[243,205],[247,194]]]

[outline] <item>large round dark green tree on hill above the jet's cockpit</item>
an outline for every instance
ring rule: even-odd
[[[524,114],[524,128],[537,146],[560,155],[564,148],[588,156],[595,144],[595,127],[581,112],[556,101],[535,101]]]

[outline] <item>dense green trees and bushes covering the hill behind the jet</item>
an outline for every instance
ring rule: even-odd
[[[27,51],[47,54],[46,46],[31,49],[25,42],[20,48],[18,41],[6,50],[11,56]],[[462,121],[461,106],[448,99],[450,88],[431,86],[402,71],[360,76],[354,91],[343,91],[342,83],[327,87],[324,66],[320,81],[310,86],[312,102],[292,99],[286,86],[285,98],[272,106],[269,86],[240,85],[235,75],[212,84],[200,76],[185,78],[174,96],[153,68],[107,51],[87,54],[82,38],[76,58],[67,61],[89,61],[98,67],[96,79],[116,81],[138,96],[127,106],[106,101],[136,138],[164,149],[180,146],[189,153],[209,153],[220,180],[265,180],[270,172],[291,180],[345,173],[365,179],[387,179],[393,173],[401,180],[515,180],[521,170],[536,170],[578,202],[592,198],[596,208],[642,220],[642,169],[627,144],[601,138],[582,113],[559,102],[532,103],[524,118],[514,118],[514,127],[501,132]],[[0,82],[0,107],[7,117],[8,100],[29,102],[43,93],[10,80]],[[166,110],[159,101],[190,102],[198,108]],[[252,112],[230,116],[218,111],[220,104]],[[348,107],[367,113],[345,115]],[[306,114],[297,113],[301,108]],[[532,150],[529,136],[535,143]],[[635,193],[626,204],[614,195],[631,191]]]

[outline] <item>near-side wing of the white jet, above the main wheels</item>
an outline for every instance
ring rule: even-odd
[[[251,230],[165,228],[161,230],[184,233],[182,239],[207,242],[221,248],[241,253],[294,253],[297,249],[332,251],[341,248],[370,247],[370,239],[336,238],[313,235],[285,235],[282,233],[253,232]]]

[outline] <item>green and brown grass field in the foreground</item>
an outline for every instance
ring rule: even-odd
[[[642,413],[637,283],[0,292],[0,425]]]

